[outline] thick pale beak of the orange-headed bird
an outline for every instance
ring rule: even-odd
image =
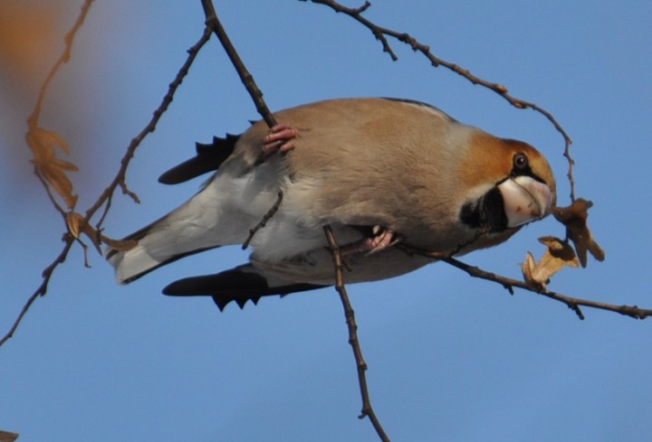
[[[530,176],[517,176],[498,185],[503,194],[508,227],[518,227],[530,221],[541,220],[552,205],[550,187]]]

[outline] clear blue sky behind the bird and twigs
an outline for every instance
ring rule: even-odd
[[[64,3],[60,36],[81,4]],[[399,61],[390,61],[366,29],[320,5],[257,0],[216,8],[271,108],[354,96],[427,101],[538,146],[557,174],[560,203],[569,202],[562,139],[540,115],[432,69],[398,43]],[[590,225],[607,260],[567,270],[551,288],[652,307],[652,3],[377,1],[367,16],[554,113],[574,140],[577,191],[595,202]],[[42,117],[81,168],[73,179],[82,212],[109,183],[202,28],[198,1],[92,6]],[[24,146],[35,91],[0,75],[4,334],[61,249],[63,226]],[[199,181],[171,188],[156,182],[158,174],[192,155],[195,141],[240,132],[252,118],[250,99],[210,42],[129,170],[142,203],[117,196],[105,232],[123,236],[185,201]],[[563,231],[542,221],[465,260],[520,277],[525,252],[540,255],[536,238],[546,234]],[[21,433],[21,442],[377,440],[357,418],[355,366],[334,290],[224,313],[207,298],[160,295],[178,277],[245,257],[218,249],[118,287],[101,257],[91,252],[92,267],[84,268],[75,248],[0,348],[0,429]],[[652,319],[585,309],[580,321],[559,303],[510,296],[444,264],[349,291],[371,398],[394,440],[649,437]]]

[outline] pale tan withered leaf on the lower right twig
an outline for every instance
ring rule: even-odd
[[[535,288],[545,288],[551,277],[566,266],[578,267],[579,262],[569,243],[555,237],[542,237],[539,241],[548,246],[539,262],[528,252],[521,266],[525,282]]]

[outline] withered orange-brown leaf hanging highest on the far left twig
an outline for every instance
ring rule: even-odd
[[[76,165],[56,157],[57,147],[65,154],[70,153],[70,147],[62,136],[43,127],[31,127],[25,139],[34,154],[32,163],[43,180],[49,183],[54,192],[62,197],[68,208],[72,209],[77,203],[77,195],[72,193],[72,183],[64,171],[74,172],[78,168]]]

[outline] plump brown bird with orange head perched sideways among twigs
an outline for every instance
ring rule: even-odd
[[[170,296],[211,296],[220,310],[262,296],[335,284],[324,227],[340,246],[345,283],[406,274],[508,240],[556,204],[546,158],[411,99],[327,99],[252,122],[241,135],[197,143],[197,155],[159,177],[212,172],[187,202],[108,249],[120,284],[227,245],[249,262],[186,277]],[[402,247],[401,247],[402,246]]]

